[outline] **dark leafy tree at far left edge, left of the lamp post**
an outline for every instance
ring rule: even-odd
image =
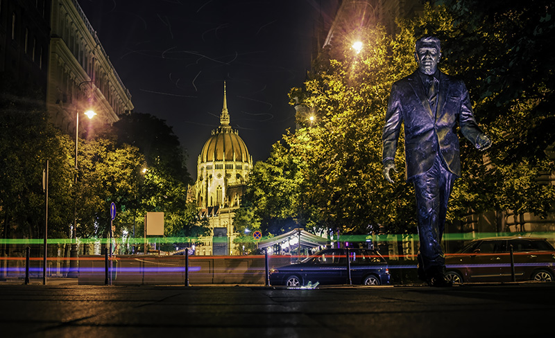
[[[72,177],[67,136],[47,122],[32,94],[0,97],[0,215],[3,237],[40,238],[44,228],[42,170],[49,159],[49,235],[67,236]],[[10,233],[10,229],[12,233]]]

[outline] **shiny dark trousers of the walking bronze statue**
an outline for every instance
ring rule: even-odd
[[[447,202],[456,175],[447,170],[443,159],[436,155],[434,166],[427,172],[413,177],[418,212],[418,275],[431,278],[445,272],[445,256],[441,238],[445,229]]]

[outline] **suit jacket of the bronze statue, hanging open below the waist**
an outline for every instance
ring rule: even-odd
[[[439,72],[437,111],[432,112],[426,90],[418,70],[395,82],[387,105],[386,123],[382,136],[383,161],[395,158],[397,142],[404,123],[404,153],[406,179],[410,180],[432,168],[439,154],[447,170],[461,176],[459,136],[463,135],[476,145],[482,131],[472,115],[468,90],[461,80]]]

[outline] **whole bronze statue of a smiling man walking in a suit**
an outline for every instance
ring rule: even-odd
[[[384,178],[395,170],[395,151],[404,123],[406,179],[414,184],[418,212],[418,278],[432,286],[450,286],[445,278],[441,238],[454,180],[461,176],[458,124],[462,134],[485,150],[491,141],[472,115],[468,90],[461,80],[438,70],[441,46],[422,37],[414,53],[418,69],[391,87],[382,136]]]

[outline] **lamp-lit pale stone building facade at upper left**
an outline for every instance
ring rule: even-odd
[[[102,123],[114,123],[133,109],[96,31],[76,0],[52,0],[46,105],[53,123],[66,132],[75,116],[94,110]]]

